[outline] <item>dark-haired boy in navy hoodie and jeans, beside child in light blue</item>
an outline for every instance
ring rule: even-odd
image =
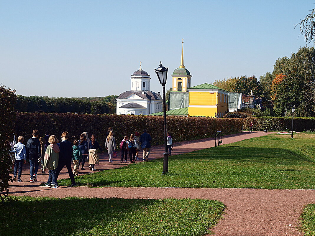
[[[38,140],[39,132],[37,129],[33,130],[33,137],[26,143],[26,158],[30,160],[30,182],[37,181],[38,162],[41,160],[41,148]]]

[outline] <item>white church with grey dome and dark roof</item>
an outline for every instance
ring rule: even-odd
[[[150,91],[150,79],[140,65],[140,69],[131,75],[131,90],[116,99],[118,115],[149,115],[163,111],[163,99],[160,92]]]

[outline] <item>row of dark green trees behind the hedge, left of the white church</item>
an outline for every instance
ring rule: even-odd
[[[115,114],[116,95],[94,98],[51,98],[17,95],[15,110],[20,112],[77,112],[83,114]],[[113,103],[115,101],[115,103]]]

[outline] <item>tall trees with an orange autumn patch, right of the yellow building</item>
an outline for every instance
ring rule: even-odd
[[[215,80],[214,85],[229,92],[263,98],[263,105],[277,115],[284,115],[295,106],[297,116],[315,115],[315,48],[302,47],[291,57],[276,60],[272,72],[259,79],[255,76]]]

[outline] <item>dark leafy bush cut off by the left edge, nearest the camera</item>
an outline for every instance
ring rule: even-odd
[[[15,90],[0,87],[0,197],[8,194],[9,181],[12,181],[10,169],[12,161],[9,156],[11,147],[7,141],[11,141],[15,120],[14,104],[16,102]],[[4,193],[3,193],[4,192]]]

